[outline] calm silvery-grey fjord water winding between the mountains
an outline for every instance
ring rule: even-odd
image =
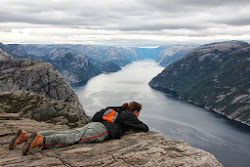
[[[150,130],[208,151],[225,167],[250,166],[250,127],[152,89],[149,81],[162,70],[153,60],[137,61],[73,89],[90,116],[135,100],[142,103],[140,119]]]

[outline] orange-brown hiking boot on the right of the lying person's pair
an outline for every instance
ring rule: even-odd
[[[44,146],[43,139],[44,137],[42,135],[37,132],[33,132],[23,147],[23,155],[27,155],[32,148],[37,146],[40,146],[39,151],[41,151]]]

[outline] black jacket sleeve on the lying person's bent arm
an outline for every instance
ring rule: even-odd
[[[148,132],[148,126],[140,121],[136,116],[129,115],[126,120],[122,122],[122,124],[131,129],[133,132]]]

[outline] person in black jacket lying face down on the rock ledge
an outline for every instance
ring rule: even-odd
[[[92,122],[82,128],[66,131],[46,130],[28,133],[19,130],[12,139],[9,149],[14,149],[18,144],[26,142],[23,155],[39,146],[42,148],[58,148],[78,143],[98,143],[106,139],[119,139],[125,131],[148,132],[148,126],[138,117],[141,104],[137,102],[124,103],[120,107],[107,107],[97,112]]]

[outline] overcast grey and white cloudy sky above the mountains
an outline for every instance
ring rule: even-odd
[[[0,0],[0,42],[153,47],[250,42],[249,0]]]

